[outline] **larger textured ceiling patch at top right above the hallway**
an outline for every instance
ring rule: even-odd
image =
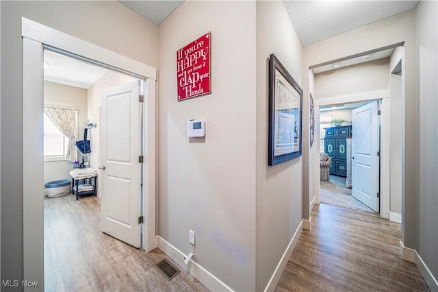
[[[413,10],[418,2],[283,1],[303,47]]]

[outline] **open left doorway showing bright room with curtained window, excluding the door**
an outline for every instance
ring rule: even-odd
[[[102,165],[102,91],[134,80],[137,79],[44,50],[43,180],[46,186],[68,182],[68,192],[57,194],[53,188],[46,188],[44,196],[44,284],[49,291],[75,290],[75,279],[90,269],[90,258],[92,263],[105,262],[101,247],[130,248],[102,233],[101,180],[105,175],[97,173]],[[84,132],[88,132],[84,139],[90,140],[86,154],[75,146]],[[73,147],[69,147],[70,138]],[[94,181],[83,179],[85,176]],[[70,186],[70,182],[78,180],[80,184]],[[83,191],[87,186],[90,191]]]

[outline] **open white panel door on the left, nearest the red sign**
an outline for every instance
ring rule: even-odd
[[[103,90],[101,113],[101,228],[140,247],[141,81]]]

